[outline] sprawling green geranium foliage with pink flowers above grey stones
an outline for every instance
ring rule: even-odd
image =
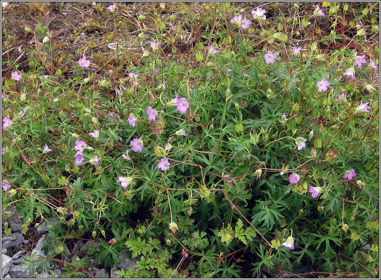
[[[117,31],[114,5],[105,13]],[[213,5],[215,25],[196,38],[192,59],[156,14],[139,59],[116,50],[135,62],[116,85],[99,76],[90,50],[66,74],[47,71],[46,57],[60,67],[59,33],[48,13],[37,26],[24,22],[36,45],[30,70],[15,65],[3,80],[3,221],[9,207],[25,214],[22,233],[56,221],[57,253],[95,240],[94,261],[107,267],[129,252],[138,261],[118,271],[125,277],[375,276],[379,48],[365,37],[378,38],[368,26],[378,4],[364,3],[361,16],[348,4],[295,4],[277,31],[266,7],[242,15]],[[330,28],[320,28],[328,16]],[[344,25],[349,17],[362,25]],[[292,38],[306,28],[312,40],[299,46]],[[68,276],[90,263],[56,264]]]

